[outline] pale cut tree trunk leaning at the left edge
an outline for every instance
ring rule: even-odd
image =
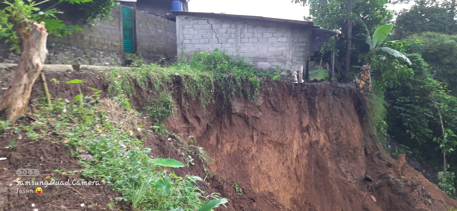
[[[48,31],[42,24],[23,21],[16,26],[21,37],[21,56],[8,89],[0,97],[0,115],[11,122],[25,114],[33,83],[40,75],[48,50]]]

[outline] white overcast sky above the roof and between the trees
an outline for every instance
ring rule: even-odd
[[[407,5],[389,5],[391,10],[401,10]],[[308,8],[292,4],[291,0],[190,0],[191,12],[224,12],[235,15],[264,16],[303,21]]]

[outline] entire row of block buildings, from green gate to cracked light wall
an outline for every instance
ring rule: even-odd
[[[79,25],[63,37],[48,37],[47,64],[127,65],[135,54],[146,62],[173,61],[184,53],[218,48],[243,56],[260,69],[283,74],[307,70],[313,56],[334,32],[310,21],[260,16],[188,12],[188,0],[119,0],[112,18],[88,26],[65,11],[62,20]],[[183,11],[172,11],[177,7]],[[10,46],[0,42],[0,49]],[[15,52],[0,51],[0,63],[17,63]]]

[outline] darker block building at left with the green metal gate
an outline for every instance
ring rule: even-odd
[[[61,20],[79,25],[83,31],[48,37],[47,64],[126,65],[133,53],[147,62],[176,57],[176,24],[164,18],[170,12],[172,0],[119,0],[112,19],[86,25],[78,14],[65,11]],[[179,2],[179,1],[178,1]],[[187,0],[181,0],[187,10]],[[1,42],[0,49],[9,49]],[[0,51],[0,63],[17,63],[15,52]]]

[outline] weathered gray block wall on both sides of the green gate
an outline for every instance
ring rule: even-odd
[[[66,20],[68,25],[79,25],[83,31],[57,37],[48,37],[47,64],[125,65],[126,54],[122,51],[121,7],[112,11],[112,18],[98,21],[95,26],[81,20]],[[160,58],[175,59],[175,22],[143,11],[136,11],[136,48],[146,62]],[[10,45],[0,40],[0,49]],[[17,63],[18,54],[0,51],[0,63]]]

